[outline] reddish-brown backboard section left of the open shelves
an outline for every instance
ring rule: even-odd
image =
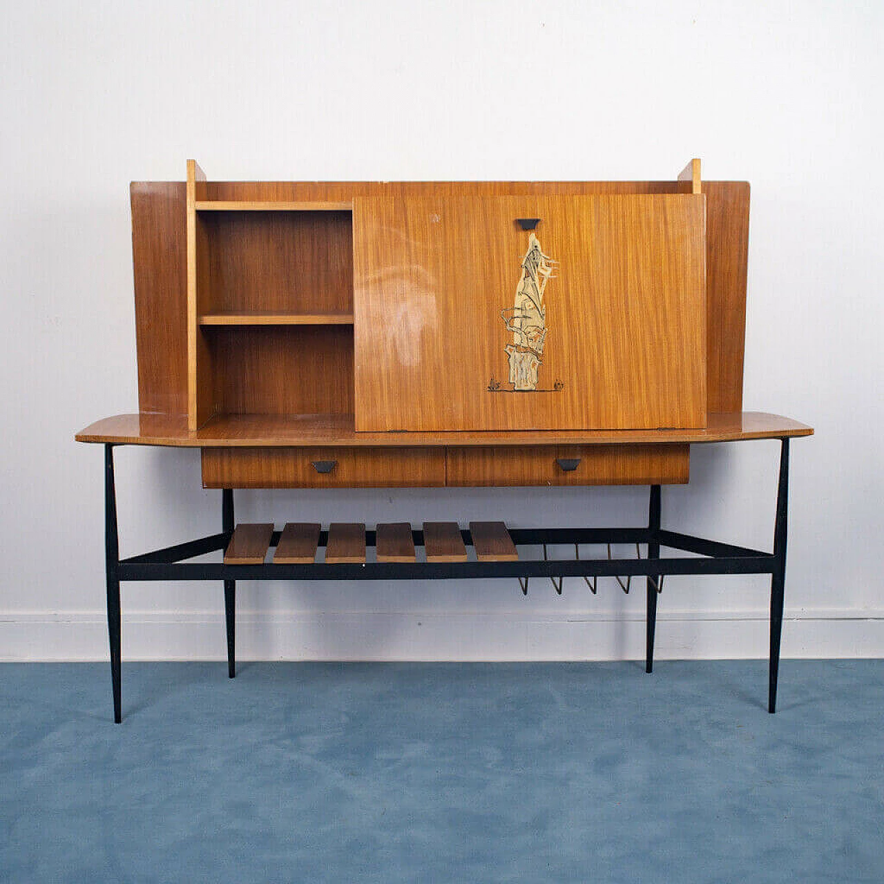
[[[187,196],[183,182],[133,182],[138,407],[187,415]]]

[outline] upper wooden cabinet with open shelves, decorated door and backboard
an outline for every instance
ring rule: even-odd
[[[133,184],[141,408],[244,441],[264,418],[703,428],[742,405],[749,187],[699,171],[230,182],[189,160]]]

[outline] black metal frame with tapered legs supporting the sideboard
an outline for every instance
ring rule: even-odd
[[[647,593],[645,671],[652,672],[654,632],[657,623],[657,596],[666,575],[769,574],[771,575],[770,670],[768,712],[776,709],[777,674],[780,664],[783,591],[786,575],[786,537],[789,497],[789,438],[781,438],[780,478],[777,488],[773,552],[760,552],[744,546],[720,543],[704,537],[680,534],[660,527],[660,486],[651,486],[648,524],[643,528],[534,528],[510,529],[516,546],[543,546],[543,560],[496,562],[366,562],[364,564],[327,565],[225,565],[223,562],[191,562],[207,552],[224,550],[234,527],[233,492],[222,492],[222,531],[187,543],[166,546],[127,559],[119,558],[117,499],[114,489],[113,445],[104,446],[105,560],[107,572],[108,634],[110,637],[110,672],[113,683],[114,721],[122,720],[120,704],[120,587],[128,580],[217,580],[224,583],[225,621],[227,627],[227,674],[236,674],[235,598],[237,580],[446,580],[516,577],[522,591],[528,592],[530,578],[552,580],[561,592],[564,577],[644,576]],[[415,546],[423,545],[423,531],[412,532]],[[279,541],[273,532],[271,545]],[[469,530],[461,531],[464,543],[472,544]],[[366,531],[366,545],[375,544],[375,532]],[[319,545],[328,541],[321,531]],[[580,559],[581,544],[647,545],[645,559]],[[546,545],[574,545],[575,559],[548,559]],[[661,547],[689,552],[700,558],[660,558]],[[556,582],[558,580],[558,583]],[[594,584],[589,583],[595,592]],[[629,591],[629,583],[622,583]]]

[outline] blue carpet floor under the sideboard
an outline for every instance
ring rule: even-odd
[[[0,880],[884,881],[884,662],[0,667]]]

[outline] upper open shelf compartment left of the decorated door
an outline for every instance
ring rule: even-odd
[[[353,312],[352,217],[343,211],[201,212],[203,313]]]

